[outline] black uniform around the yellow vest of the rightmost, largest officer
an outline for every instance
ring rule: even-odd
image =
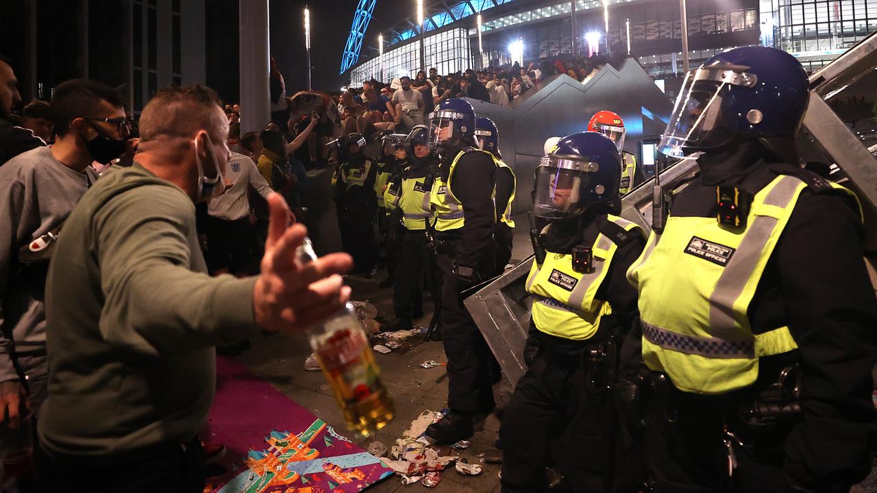
[[[702,174],[675,197],[672,214],[715,218],[717,185],[754,193],[781,174],[808,184],[748,310],[753,333],[788,325],[798,349],[761,357],[756,383],[729,394],[660,390],[646,427],[656,491],[840,492],[871,469],[877,300],[862,265],[857,204],[809,171],[770,159],[752,144],[702,156]],[[741,406],[763,401],[759,392],[795,363],[800,414],[746,425]],[[743,444],[732,444],[731,478],[725,427]]]

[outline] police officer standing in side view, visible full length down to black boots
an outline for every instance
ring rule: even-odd
[[[491,154],[474,147],[471,104],[446,99],[436,106],[430,120],[430,142],[440,160],[430,203],[442,274],[442,341],[450,411],[427,428],[426,434],[439,444],[453,444],[472,436],[476,414],[495,407],[490,351],[463,306],[463,291],[488,279],[496,267],[492,200],[496,164]]]

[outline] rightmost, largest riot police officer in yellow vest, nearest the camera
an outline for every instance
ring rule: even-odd
[[[658,491],[847,491],[871,469],[877,300],[847,189],[799,166],[801,64],[717,54],[683,82],[660,150],[699,154],[628,275],[658,389]]]

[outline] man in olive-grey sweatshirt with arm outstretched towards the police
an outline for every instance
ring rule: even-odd
[[[257,329],[300,332],[350,295],[339,275],[349,255],[296,261],[306,231],[287,227],[277,194],[261,274],[206,274],[194,203],[222,189],[229,158],[211,89],[160,89],[139,129],[134,165],[82,196],[58,241],[64,261],[50,268],[44,490],[200,493],[195,434],[213,400],[215,347]]]

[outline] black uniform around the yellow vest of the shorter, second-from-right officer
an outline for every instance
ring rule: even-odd
[[[615,456],[621,453],[616,446],[615,418],[604,386],[597,389],[591,384],[592,379],[604,381],[605,375],[596,375],[601,370],[589,367],[586,356],[589,349],[605,345],[610,336],[617,341],[615,347],[620,345],[638,318],[637,290],[625,275],[642,252],[645,239],[636,231],[617,237],[613,232],[620,228],[607,223],[605,212],[591,212],[588,217],[555,222],[542,235],[548,255],[571,254],[580,245],[591,247],[602,231],[616,240],[609,272],[595,294],[610,304],[612,315],[603,317],[595,335],[584,340],[540,332],[531,319],[530,333],[538,338],[538,352],[517,382],[500,428],[504,492],[545,489],[545,459],[553,444],[560,451],[555,461],[568,487],[607,491],[613,482]]]

